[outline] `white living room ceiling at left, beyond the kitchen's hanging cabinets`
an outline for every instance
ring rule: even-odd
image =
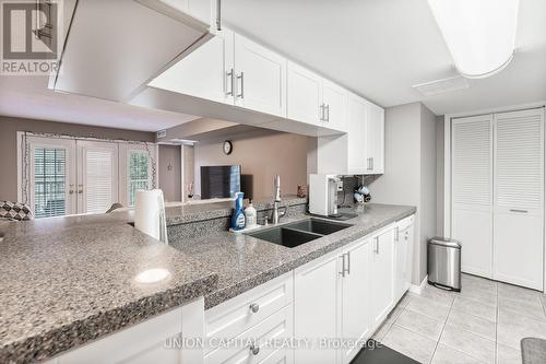
[[[56,93],[47,83],[44,77],[0,77],[0,115],[140,131],[168,129],[198,118]]]

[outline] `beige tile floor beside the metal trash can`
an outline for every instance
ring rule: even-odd
[[[546,339],[546,295],[467,274],[462,286],[406,293],[373,338],[432,364],[521,364],[520,340]]]

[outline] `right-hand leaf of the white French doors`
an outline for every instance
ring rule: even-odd
[[[118,202],[118,144],[78,141],[78,213],[105,213]]]

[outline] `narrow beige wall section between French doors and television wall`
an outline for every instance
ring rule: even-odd
[[[181,156],[179,145],[159,145],[157,175],[166,201],[181,201]]]

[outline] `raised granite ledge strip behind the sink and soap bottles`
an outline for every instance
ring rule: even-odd
[[[298,198],[296,196],[283,196],[281,207],[290,207],[295,204],[307,203],[306,198]],[[245,200],[245,206],[248,200]],[[273,208],[270,199],[252,200],[252,206],[257,211],[268,210]],[[167,206],[165,214],[167,215],[167,225],[185,224],[189,222],[228,218],[232,215],[234,201],[214,202],[214,203],[189,203],[179,206]]]

